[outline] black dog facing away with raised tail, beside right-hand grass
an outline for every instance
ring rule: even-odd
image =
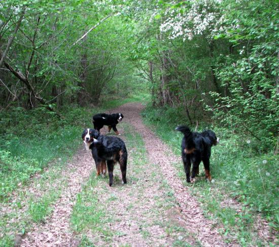
[[[211,181],[210,174],[210,156],[211,147],[217,145],[219,138],[211,130],[206,130],[201,133],[191,132],[187,126],[179,126],[176,128],[184,134],[182,139],[182,160],[188,183],[195,182],[195,175],[199,173],[199,164],[202,161],[205,171],[205,178]],[[190,170],[191,163],[193,164],[191,178]]]

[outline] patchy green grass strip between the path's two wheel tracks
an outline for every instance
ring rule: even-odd
[[[142,162],[142,157],[144,157],[142,156],[142,152],[145,151],[143,140],[138,134],[129,131],[130,127],[126,123],[123,123],[123,125],[125,126],[125,138],[128,140],[125,141],[126,146],[138,150],[138,152],[134,152],[138,157],[134,158],[133,156],[133,160],[135,160],[135,162],[133,162],[133,167],[136,167],[135,170],[140,172],[140,168],[144,164],[144,162]],[[117,170],[117,168],[115,170]],[[116,172],[114,172],[114,186],[120,186],[120,179],[115,173]],[[105,178],[100,178],[96,177],[95,174],[96,173],[93,170],[89,181],[83,186],[82,191],[77,195],[71,216],[72,229],[77,234],[82,235],[81,246],[91,246],[92,244],[92,240],[87,236],[87,232],[90,232],[90,235],[101,235],[107,242],[111,240],[113,235],[120,236],[122,234],[121,232],[112,232],[108,227],[109,222],[118,220],[114,216],[115,212],[111,212],[112,209],[110,208],[110,204],[120,203],[119,198],[112,193],[107,197],[105,203],[100,203],[98,196],[108,193],[108,175]],[[128,183],[133,183],[133,181],[134,177],[128,178]],[[97,186],[98,189],[96,188]],[[117,189],[121,190],[122,188],[118,187]]]

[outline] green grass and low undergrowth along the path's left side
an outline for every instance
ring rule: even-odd
[[[13,107],[1,113],[0,200],[55,158],[70,157],[80,145],[83,127],[91,126],[88,110],[75,105],[61,109],[60,118],[45,107]]]

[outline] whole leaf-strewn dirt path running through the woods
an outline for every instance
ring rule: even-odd
[[[135,162],[133,150],[129,150],[128,184],[121,186],[116,183],[115,187],[109,187],[107,179],[104,179],[95,188],[95,193],[101,195],[98,197],[99,204],[109,203],[107,217],[114,218],[107,226],[109,231],[117,233],[110,238],[110,245],[170,246],[177,239],[183,239],[191,246],[200,243],[203,246],[229,246],[217,229],[212,229],[213,223],[204,218],[197,201],[190,196],[187,187],[183,186],[177,177],[171,163],[180,161],[180,157],[173,155],[169,148],[143,125],[140,116],[142,109],[140,103],[128,103],[113,110],[122,112],[124,121],[140,133],[147,157],[141,158],[137,169],[129,169]],[[125,139],[125,129],[121,124],[118,129],[123,134],[121,137]],[[104,134],[107,130],[103,129],[102,132]],[[34,231],[27,233],[22,239],[21,246],[75,245],[69,219],[76,195],[88,179],[91,169],[95,169],[91,155],[84,149],[79,151],[63,174],[63,177],[67,178],[67,186],[54,205],[52,215],[45,224],[35,225]],[[115,173],[117,177],[117,171]],[[134,182],[132,177],[136,178]],[[169,199],[166,194],[173,196]],[[117,201],[108,202],[111,200]],[[169,230],[172,225],[182,227],[187,234]],[[108,243],[102,236],[90,235],[90,232],[87,235],[97,246]]]

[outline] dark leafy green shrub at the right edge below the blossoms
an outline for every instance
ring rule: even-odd
[[[223,35],[234,52],[217,59],[216,76],[227,94],[212,93],[215,117],[235,131],[258,140],[259,150],[277,145],[278,134],[278,25],[274,1],[230,2],[228,23],[238,28]],[[218,37],[216,37],[218,38]]]

